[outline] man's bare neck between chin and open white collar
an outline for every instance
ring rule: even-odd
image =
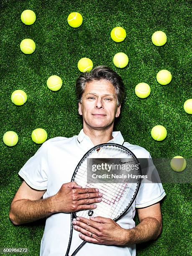
[[[83,128],[83,132],[90,138],[94,146],[107,143],[113,139],[112,132],[113,127],[108,130],[95,130],[92,128]]]

